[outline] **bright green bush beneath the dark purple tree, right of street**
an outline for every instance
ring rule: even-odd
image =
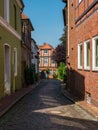
[[[65,63],[60,63],[58,67],[58,78],[63,80],[63,82],[66,82],[67,80],[67,67],[65,66]]]

